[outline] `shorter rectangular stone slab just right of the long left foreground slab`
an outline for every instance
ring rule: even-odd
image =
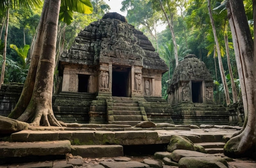
[[[72,145],[71,153],[81,157],[117,157],[124,156],[121,145]]]

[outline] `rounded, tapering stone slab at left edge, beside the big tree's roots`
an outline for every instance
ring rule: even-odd
[[[27,122],[0,116],[0,133],[15,133],[21,130],[26,130],[28,127],[29,124]]]

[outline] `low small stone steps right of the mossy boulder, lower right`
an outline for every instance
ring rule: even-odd
[[[223,153],[224,142],[202,142],[195,143],[195,145],[203,146],[205,151],[209,154]]]

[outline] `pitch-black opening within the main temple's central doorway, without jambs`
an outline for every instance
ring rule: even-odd
[[[127,69],[125,72],[112,71],[112,96],[128,97],[128,76]]]

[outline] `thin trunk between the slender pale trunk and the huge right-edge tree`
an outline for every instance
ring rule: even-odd
[[[230,63],[229,40],[228,40],[228,35],[227,35],[227,22],[226,22],[226,20],[225,20],[224,41],[225,41],[225,47],[226,47],[226,53],[227,53],[227,65],[229,67],[229,76],[230,76],[230,81],[231,81],[233,103],[238,103],[236,85],[235,85],[235,82],[234,82],[233,71],[232,71],[231,63]]]

